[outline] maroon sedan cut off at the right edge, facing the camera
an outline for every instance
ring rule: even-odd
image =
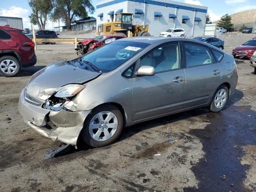
[[[254,54],[254,51],[256,51],[256,39],[249,40],[248,42],[237,46],[233,52],[232,55],[234,58],[236,57],[243,57],[243,58],[251,58]]]

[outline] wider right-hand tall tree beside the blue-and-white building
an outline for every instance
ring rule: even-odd
[[[54,2],[54,15],[60,16],[68,29],[71,29],[71,23],[75,18],[88,17],[87,10],[91,14],[95,11],[91,0],[54,0]]]

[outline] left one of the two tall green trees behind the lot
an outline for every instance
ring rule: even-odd
[[[28,4],[32,9],[30,16],[35,19],[38,28],[45,29],[47,17],[53,8],[53,0],[29,0]]]

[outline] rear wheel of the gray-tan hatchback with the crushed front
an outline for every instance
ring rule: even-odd
[[[220,112],[225,107],[228,101],[228,96],[229,92],[227,86],[221,85],[214,93],[210,104],[210,111],[215,113]]]

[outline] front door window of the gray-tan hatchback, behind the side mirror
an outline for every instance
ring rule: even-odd
[[[178,43],[158,46],[144,55],[140,66],[153,66],[156,72],[180,68],[180,46]]]

